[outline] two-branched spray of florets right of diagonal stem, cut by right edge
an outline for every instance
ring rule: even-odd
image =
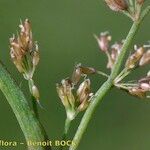
[[[144,65],[150,64],[150,49],[144,45],[141,47],[135,46],[134,53],[131,54],[125,64],[125,68],[116,77],[114,84],[116,87],[126,90],[131,95],[139,98],[149,97],[150,92],[150,73],[147,76],[134,82],[122,82],[133,70],[141,68]]]

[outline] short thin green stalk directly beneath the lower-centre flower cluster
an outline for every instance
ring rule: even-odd
[[[62,140],[65,141],[66,138],[67,138],[67,134],[68,134],[68,131],[69,131],[69,128],[70,128],[70,125],[71,125],[71,121],[69,118],[66,118],[66,121],[65,121],[65,127],[64,127],[64,132],[63,132],[63,135],[62,135]],[[60,149],[59,150],[63,150],[63,146],[60,146]]]

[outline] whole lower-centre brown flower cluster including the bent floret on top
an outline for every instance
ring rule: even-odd
[[[95,73],[95,69],[80,64],[74,69],[72,79],[66,78],[56,84],[58,95],[66,109],[67,118],[73,120],[84,111],[91,102],[91,82],[86,76]],[[80,81],[83,77],[83,81]]]

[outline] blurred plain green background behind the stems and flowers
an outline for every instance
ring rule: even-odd
[[[18,30],[20,19],[32,22],[34,39],[40,47],[40,65],[34,76],[41,92],[40,111],[50,139],[59,139],[65,111],[57,96],[55,83],[71,75],[74,64],[82,63],[104,72],[106,58],[99,52],[93,33],[108,30],[113,41],[125,38],[131,21],[109,10],[101,0],[0,0],[0,59],[29,98],[27,83],[9,57],[9,38]],[[150,15],[145,19],[135,43],[150,40]],[[131,78],[146,74],[142,69]],[[105,81],[91,76],[96,91]],[[29,99],[30,101],[30,99]],[[70,137],[76,131],[82,114],[73,122]],[[0,139],[24,141],[23,133],[5,97],[0,93]],[[150,101],[133,98],[112,90],[97,108],[79,150],[149,150]],[[2,148],[25,150],[17,148]]]

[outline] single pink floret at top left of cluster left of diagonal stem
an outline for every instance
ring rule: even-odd
[[[99,48],[104,52],[108,51],[109,42],[111,41],[111,36],[109,35],[109,33],[108,32],[103,32],[103,33],[100,34],[99,37],[97,37],[95,35],[95,38],[98,42]]]

